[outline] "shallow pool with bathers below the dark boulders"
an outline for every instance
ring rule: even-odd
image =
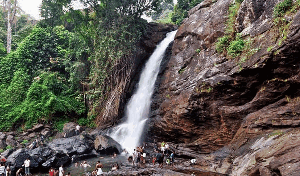
[[[74,166],[74,164],[71,164],[71,165],[64,167],[64,169],[66,170],[65,174],[67,174],[68,172],[70,172],[71,175],[82,175],[85,172],[91,173],[91,171],[95,169],[95,166],[96,166],[96,163],[98,160],[103,165],[103,168],[102,168],[103,172],[108,172],[112,168],[112,165],[116,162],[119,164],[120,163],[128,163],[127,157],[122,156],[122,155],[118,155],[116,158],[111,158],[110,156],[104,156],[104,157],[100,157],[100,158],[90,158],[90,159],[86,159],[86,161],[88,162],[89,165],[91,165],[91,167],[88,167],[88,168],[77,167],[76,168]],[[79,164],[81,162],[82,161],[79,161]],[[41,173],[41,172],[35,173],[33,175],[34,176],[49,176],[48,173]]]

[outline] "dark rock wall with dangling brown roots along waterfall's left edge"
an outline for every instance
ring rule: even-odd
[[[97,125],[107,128],[107,125],[118,122],[124,115],[126,103],[137,88],[140,73],[155,50],[156,45],[162,41],[168,32],[174,31],[178,26],[173,24],[148,23],[141,40],[136,45],[134,57],[123,58],[116,67],[122,70],[121,78],[111,88],[107,101],[101,105],[97,117]],[[120,74],[121,75],[121,74]]]

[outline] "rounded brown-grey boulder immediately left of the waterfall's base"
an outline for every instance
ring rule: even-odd
[[[95,150],[98,153],[101,154],[112,154],[114,152],[116,153],[122,153],[122,146],[113,140],[113,138],[107,136],[107,135],[99,135],[96,137],[95,141]]]

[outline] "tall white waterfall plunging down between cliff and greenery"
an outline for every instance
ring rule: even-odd
[[[157,45],[143,68],[137,91],[131,96],[126,106],[127,121],[112,129],[108,134],[127,151],[132,151],[139,144],[149,116],[151,97],[160,64],[168,45],[174,40],[176,32],[177,30],[169,32],[167,37]]]

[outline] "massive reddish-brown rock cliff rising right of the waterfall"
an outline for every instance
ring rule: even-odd
[[[275,18],[280,2],[244,0],[231,33],[236,2],[205,0],[189,11],[157,81],[148,136],[207,171],[300,173],[300,2]],[[244,41],[238,56],[216,52],[225,35]]]

